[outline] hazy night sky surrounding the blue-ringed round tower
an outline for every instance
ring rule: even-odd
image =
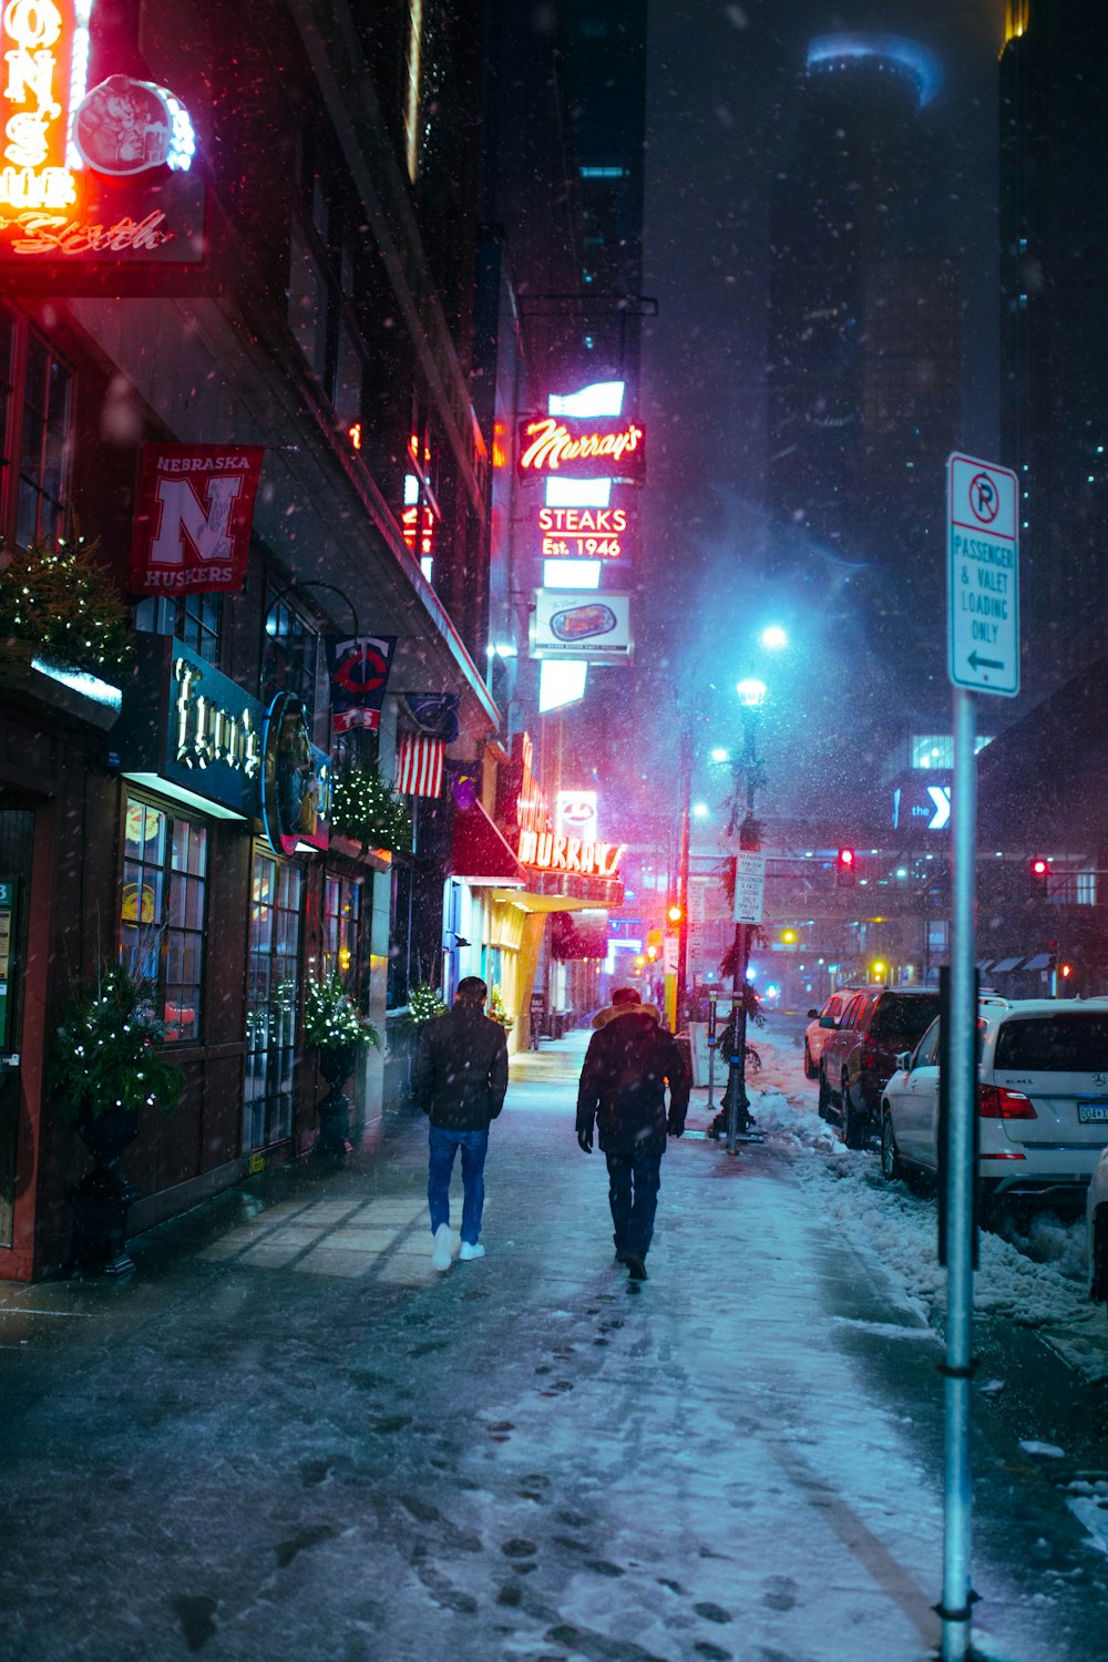
[[[676,683],[704,705],[704,736],[718,711],[734,725],[724,690],[738,675],[761,673],[746,643],[762,620],[781,613],[797,650],[784,678],[777,668],[782,696],[767,731],[797,763],[819,735],[827,696],[847,685],[859,696],[879,695],[884,668],[864,661],[864,640],[839,652],[821,635],[821,585],[834,588],[836,573],[817,555],[807,562],[797,550],[801,568],[816,577],[814,593],[799,595],[796,585],[776,593],[762,577],[764,540],[777,535],[764,515],[767,191],[796,108],[796,76],[806,42],[839,30],[907,35],[940,57],[945,83],[935,111],[942,108],[949,121],[955,158],[949,194],[963,273],[958,442],[995,455],[1003,0],[839,7],[655,0],[650,28],[645,293],[658,297],[659,314],[646,326],[643,349],[643,407],[651,424],[643,499],[650,595],[636,706],[656,715]],[[844,656],[854,658],[846,680]],[[945,700],[939,681],[937,671],[935,696]],[[664,740],[655,766],[664,773]],[[651,771],[650,761],[643,771]],[[827,811],[836,809],[836,783],[824,778],[821,786]],[[779,809],[789,806],[786,791],[777,796]],[[809,806],[816,806],[811,798]]]

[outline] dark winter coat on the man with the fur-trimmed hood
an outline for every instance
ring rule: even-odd
[[[666,1130],[674,1137],[684,1130],[688,1105],[684,1057],[653,1014],[631,1006],[626,1015],[615,1015],[588,1040],[576,1092],[576,1128],[591,1133],[596,1120],[605,1153],[664,1148]]]

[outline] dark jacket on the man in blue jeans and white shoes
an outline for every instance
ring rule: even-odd
[[[485,1132],[508,1089],[508,1040],[480,1004],[455,1004],[427,1022],[415,1057],[415,1100],[432,1125]]]

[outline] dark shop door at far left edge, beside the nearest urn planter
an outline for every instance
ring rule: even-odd
[[[20,1130],[23,966],[35,814],[0,809],[0,1246],[12,1246]]]

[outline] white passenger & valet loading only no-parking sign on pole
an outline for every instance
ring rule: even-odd
[[[947,670],[975,693],[1020,690],[1020,492],[995,462],[947,460]]]

